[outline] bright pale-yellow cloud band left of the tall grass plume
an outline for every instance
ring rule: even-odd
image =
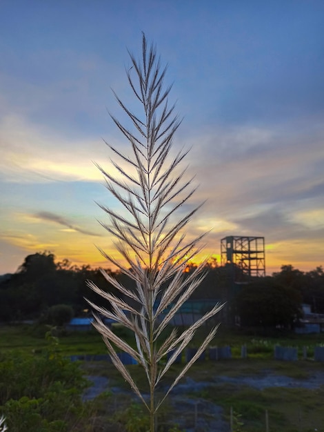
[[[99,135],[67,139],[17,115],[0,120],[0,149],[0,179],[14,183],[100,181],[92,160],[104,164],[107,157]]]

